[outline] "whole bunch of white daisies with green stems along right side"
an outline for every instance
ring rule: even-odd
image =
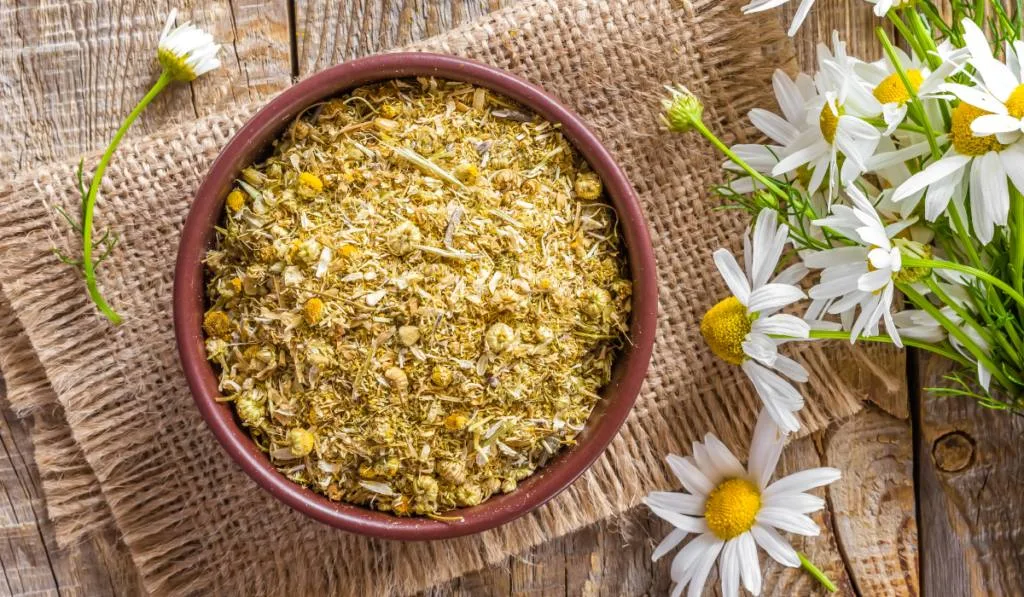
[[[771,481],[808,378],[784,344],[912,346],[955,365],[933,391],[1024,408],[1024,1],[868,2],[899,43],[879,27],[885,56],[865,61],[834,34],[814,76],[776,72],[778,110],[750,113],[765,144],[723,143],[684,87],[665,99],[671,131],[697,131],[725,156],[717,191],[754,219],[741,258],[713,255],[730,294],[700,332],[764,403],[745,467],[708,434],[668,459],[684,492],[644,500],[674,526],[655,559],[694,536],[673,560],[673,595],[698,595],[716,563],[724,595],[758,594],[757,548],[835,590],[780,535],[817,535],[807,514],[823,501],[807,492],[840,478],[824,468]],[[812,3],[801,0],[791,35]]]

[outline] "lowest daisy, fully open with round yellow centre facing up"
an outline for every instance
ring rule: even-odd
[[[746,467],[714,434],[693,442],[693,456],[668,457],[669,467],[684,493],[653,492],[644,498],[651,511],[675,529],[651,555],[657,560],[689,535],[697,535],[672,561],[673,597],[696,597],[703,591],[718,561],[722,594],[739,594],[742,584],[761,593],[757,548],[783,566],[800,566],[800,558],[779,530],[814,537],[818,525],[807,514],[824,507],[824,500],[805,492],[840,478],[834,468],[800,471],[770,483],[785,434],[761,412],[751,440]]]

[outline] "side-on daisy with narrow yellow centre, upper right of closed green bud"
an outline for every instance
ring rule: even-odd
[[[818,46],[817,95],[808,104],[800,135],[785,144],[782,159],[772,169],[774,176],[781,176],[806,168],[811,173],[807,189],[812,194],[828,175],[829,198],[837,178],[846,186],[867,170],[867,161],[882,138],[863,120],[880,116],[882,103],[857,81],[858,60],[846,53],[838,33],[833,33],[833,46],[835,53]]]

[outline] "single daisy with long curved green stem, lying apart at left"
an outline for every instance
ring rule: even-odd
[[[93,239],[93,214],[95,212],[96,201],[99,199],[99,186],[103,179],[103,174],[106,172],[106,167],[110,165],[118,145],[121,144],[121,139],[124,138],[125,133],[128,132],[128,129],[131,128],[132,124],[145,108],[168,85],[175,81],[193,81],[197,77],[220,67],[220,60],[217,59],[217,52],[220,51],[220,45],[213,42],[213,36],[187,23],[172,29],[176,15],[177,11],[172,10],[167,17],[164,31],[160,36],[160,44],[157,49],[157,59],[163,68],[160,77],[157,78],[153,87],[150,88],[145,95],[142,96],[142,99],[132,109],[114,134],[114,138],[106,146],[102,157],[99,159],[99,163],[96,165],[88,190],[82,184],[84,177],[83,164],[79,164],[78,179],[80,183],[79,188],[82,193],[81,222],[76,222],[68,214],[63,214],[69,222],[71,222],[72,227],[82,236],[82,257],[81,259],[74,260],[61,257],[66,262],[81,267],[89,298],[95,303],[99,312],[114,325],[120,324],[122,317],[102,296],[96,281],[96,266],[113,249],[113,237],[104,234],[99,241]],[[103,254],[99,255],[98,258],[94,255],[97,245],[105,249]]]

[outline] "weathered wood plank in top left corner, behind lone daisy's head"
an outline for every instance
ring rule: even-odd
[[[224,42],[224,68],[155,101],[129,132],[255,98],[291,79],[285,0],[173,3]],[[153,84],[170,3],[40,0],[0,6],[0,165],[25,169],[102,147]]]

